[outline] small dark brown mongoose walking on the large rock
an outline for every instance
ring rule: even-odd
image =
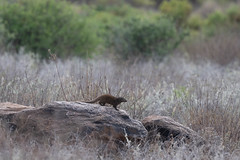
[[[110,94],[104,94],[86,103],[96,103],[96,102],[98,102],[101,106],[104,106],[106,103],[111,104],[118,111],[117,106],[122,102],[127,102],[127,100],[123,97],[114,97]]]

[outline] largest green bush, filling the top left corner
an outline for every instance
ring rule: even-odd
[[[60,56],[85,56],[94,50],[97,38],[85,22],[65,1],[56,0],[2,0],[0,17],[7,30],[15,36],[10,39],[16,49],[48,57],[50,48]]]

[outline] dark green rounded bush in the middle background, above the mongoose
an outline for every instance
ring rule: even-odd
[[[131,18],[112,28],[109,46],[124,59],[162,58],[175,49],[182,38],[174,23],[165,17]]]

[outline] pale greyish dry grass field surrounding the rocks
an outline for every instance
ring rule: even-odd
[[[59,76],[56,71],[58,68]],[[120,159],[237,159],[240,149],[240,67],[198,64],[172,56],[163,62],[115,64],[101,59],[40,62],[29,55],[0,56],[0,101],[40,107],[56,100],[89,100],[103,93],[128,99],[121,109],[141,120],[147,115],[173,117],[210,144],[189,150],[161,144],[129,146]],[[60,77],[60,79],[59,79]],[[64,88],[61,89],[61,83]],[[66,96],[66,97],[65,97]],[[2,159],[102,159],[82,144],[16,144],[0,128]],[[116,158],[116,157],[115,157]],[[109,155],[109,159],[111,156]]]

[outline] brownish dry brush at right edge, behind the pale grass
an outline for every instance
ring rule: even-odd
[[[240,60],[239,31],[219,33],[211,38],[198,38],[186,42],[185,48],[191,60],[211,61],[220,65],[228,65]]]

